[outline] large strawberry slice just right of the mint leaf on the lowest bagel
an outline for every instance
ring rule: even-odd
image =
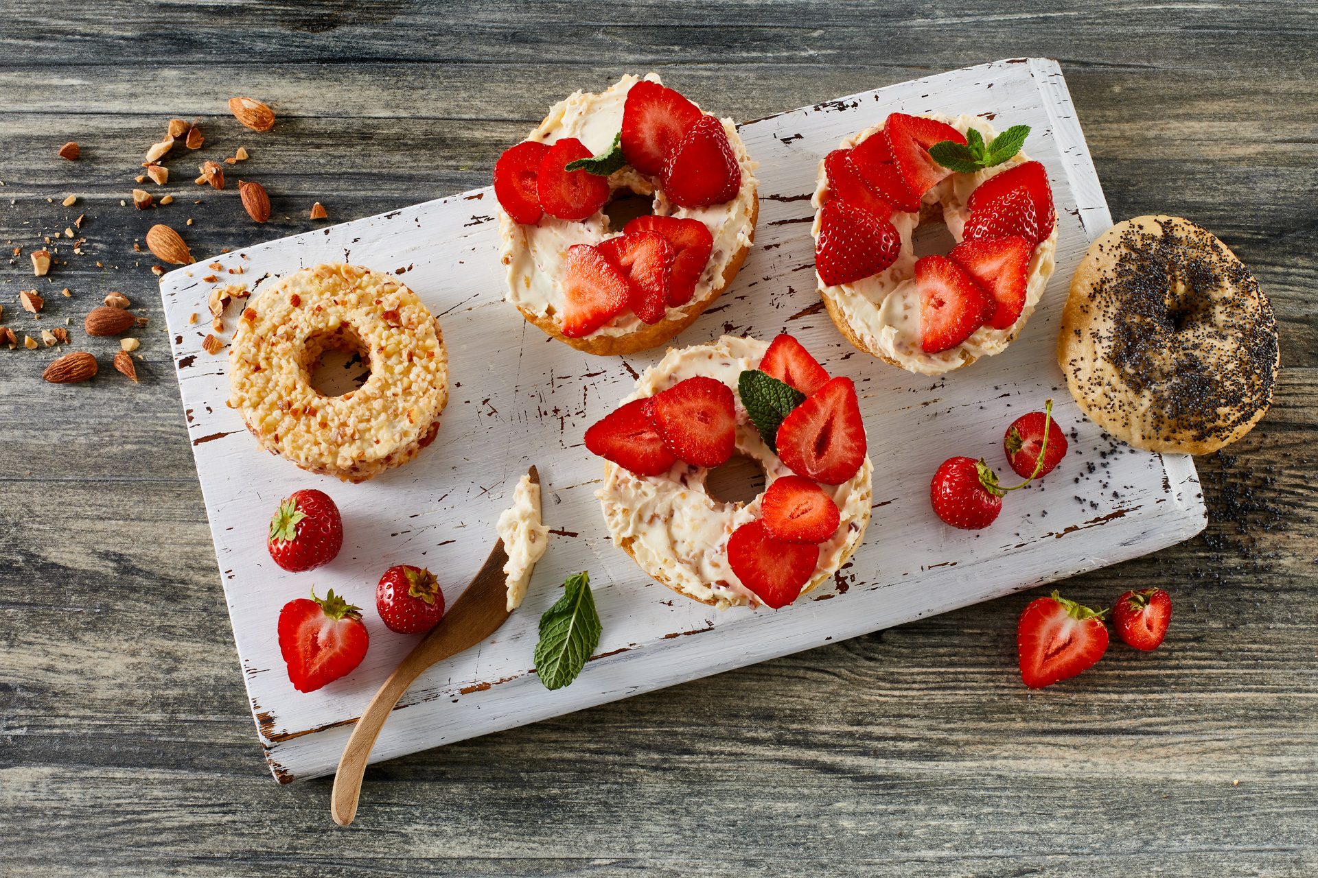
[[[865,424],[855,384],[833,378],[778,425],[778,457],[792,473],[841,484],[865,462]]]

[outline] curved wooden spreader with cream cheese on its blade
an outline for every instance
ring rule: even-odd
[[[529,475],[534,484],[540,483],[540,474],[534,466]],[[357,796],[361,795],[361,777],[366,770],[370,749],[376,745],[380,729],[384,728],[385,720],[389,719],[389,713],[393,712],[407,687],[416,682],[416,678],[431,665],[456,656],[493,634],[511,615],[507,608],[505,563],[507,563],[507,553],[503,550],[503,540],[500,540],[494,544],[489,558],[481,565],[476,578],[467,586],[467,591],[449,607],[434,631],[407,653],[407,657],[370,699],[370,704],[366,706],[352,731],[352,737],[348,738],[348,746],[344,748],[343,758],[339,760],[339,773],[333,778],[330,813],[340,827],[348,825],[357,816]]]

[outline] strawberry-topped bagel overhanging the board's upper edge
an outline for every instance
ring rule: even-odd
[[[660,345],[731,283],[755,238],[755,162],[730,118],[650,74],[560,101],[494,166],[507,300],[592,354]],[[614,228],[616,197],[652,215]]]

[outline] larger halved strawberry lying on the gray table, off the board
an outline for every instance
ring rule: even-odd
[[[1052,598],[1031,602],[1016,623],[1016,654],[1025,686],[1043,688],[1093,667],[1107,652],[1104,612],[1056,591]]]

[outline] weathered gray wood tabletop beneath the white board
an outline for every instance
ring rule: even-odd
[[[0,349],[0,873],[1318,871],[1318,11],[965,5],[11,4],[0,325],[72,317],[101,374],[51,386],[55,350]],[[1197,461],[1209,530],[1062,586],[1168,588],[1162,649],[1031,694],[1023,594],[376,766],[348,831],[328,781],[270,779],[133,246],[150,222],[192,217],[211,253],[312,228],[312,201],[347,220],[482,186],[546,107],[623,71],[754,118],[1011,55],[1061,61],[1114,217],[1202,222],[1277,311],[1272,412]],[[241,129],[235,95],[275,130]],[[269,190],[265,226],[232,183],[132,207],[145,147],[196,116],[208,158],[252,151],[228,170]],[[36,321],[28,253],[83,213]],[[111,290],[152,319],[140,386],[80,329]]]

